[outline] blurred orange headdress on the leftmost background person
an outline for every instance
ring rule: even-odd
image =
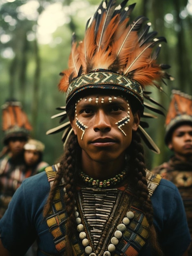
[[[26,137],[27,140],[32,126],[26,113],[22,110],[22,104],[19,101],[9,100],[1,108],[4,144],[7,144],[11,137]]]

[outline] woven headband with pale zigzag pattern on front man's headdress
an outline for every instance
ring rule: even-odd
[[[137,99],[143,108],[143,90],[141,85],[126,76],[108,70],[96,70],[83,74],[73,80],[66,93],[66,107],[75,95],[86,89],[118,90],[125,94],[130,94]],[[126,96],[126,95],[125,95]]]

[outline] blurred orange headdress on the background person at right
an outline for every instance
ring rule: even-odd
[[[183,123],[192,125],[192,97],[179,90],[172,90],[171,102],[166,116],[165,141],[171,139],[174,128]]]

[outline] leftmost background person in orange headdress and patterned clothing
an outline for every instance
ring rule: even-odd
[[[4,148],[0,158],[0,218],[21,182],[29,177],[25,172],[24,145],[32,127],[20,102],[6,101],[2,106]]]

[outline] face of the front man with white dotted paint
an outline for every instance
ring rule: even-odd
[[[132,114],[128,101],[114,95],[89,95],[77,101],[71,125],[82,148],[82,159],[108,162],[124,155],[139,112]]]

